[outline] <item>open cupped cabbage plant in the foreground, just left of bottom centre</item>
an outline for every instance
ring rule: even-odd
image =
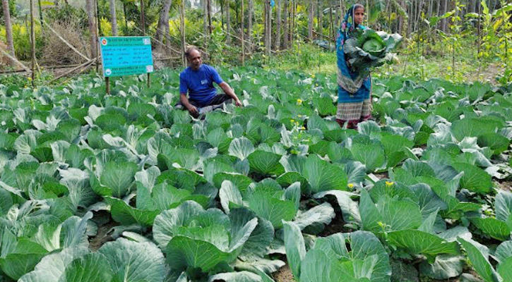
[[[204,210],[195,202],[187,201],[158,215],[153,233],[157,243],[165,247],[172,269],[197,267],[208,272],[218,264],[232,262],[237,257],[234,252],[242,249],[256,226],[256,218],[233,213],[228,217],[218,209]]]

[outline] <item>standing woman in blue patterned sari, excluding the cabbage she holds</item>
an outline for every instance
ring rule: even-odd
[[[347,61],[343,47],[345,40],[350,37],[356,28],[366,29],[362,25],[364,19],[364,6],[355,4],[345,15],[345,20],[338,31],[336,39],[336,54],[338,56],[338,112],[336,121],[343,128],[357,129],[357,124],[367,121],[371,117],[371,78],[362,77],[353,72]]]

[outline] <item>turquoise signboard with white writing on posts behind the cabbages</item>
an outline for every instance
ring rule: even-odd
[[[103,76],[153,73],[150,37],[100,37]]]

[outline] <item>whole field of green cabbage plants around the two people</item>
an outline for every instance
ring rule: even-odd
[[[376,79],[343,130],[335,75],[220,74],[200,119],[177,71],[0,85],[0,281],[512,281],[512,87]]]

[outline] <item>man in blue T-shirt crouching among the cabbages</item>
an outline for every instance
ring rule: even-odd
[[[185,51],[185,56],[189,61],[189,67],[179,74],[178,106],[184,106],[195,118],[201,114],[198,108],[216,109],[222,106],[222,103],[232,101],[235,105],[242,106],[237,94],[220,78],[215,68],[203,63],[201,51],[196,47],[189,47]],[[225,94],[217,94],[213,82],[217,83]],[[187,92],[189,97],[186,96]]]

